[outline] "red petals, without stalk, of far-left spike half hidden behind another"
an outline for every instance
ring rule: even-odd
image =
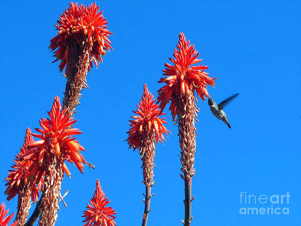
[[[13,169],[9,170],[10,173],[5,179],[6,181],[8,181],[6,183],[6,186],[8,186],[8,188],[5,191],[5,193],[8,195],[8,200],[14,198],[17,194],[21,194],[24,185],[29,182],[28,176],[30,174],[30,168],[33,162],[30,160],[21,161],[20,159],[22,158],[22,156],[28,153],[29,150],[27,146],[33,142],[34,139],[31,135],[31,130],[27,128],[24,144],[21,147],[20,152],[18,152],[18,154],[16,155],[16,158],[14,160],[15,164],[12,166]],[[37,184],[33,183],[31,188],[31,197],[34,202],[38,200],[39,190],[42,189],[43,177],[41,178],[41,180],[37,181]]]

